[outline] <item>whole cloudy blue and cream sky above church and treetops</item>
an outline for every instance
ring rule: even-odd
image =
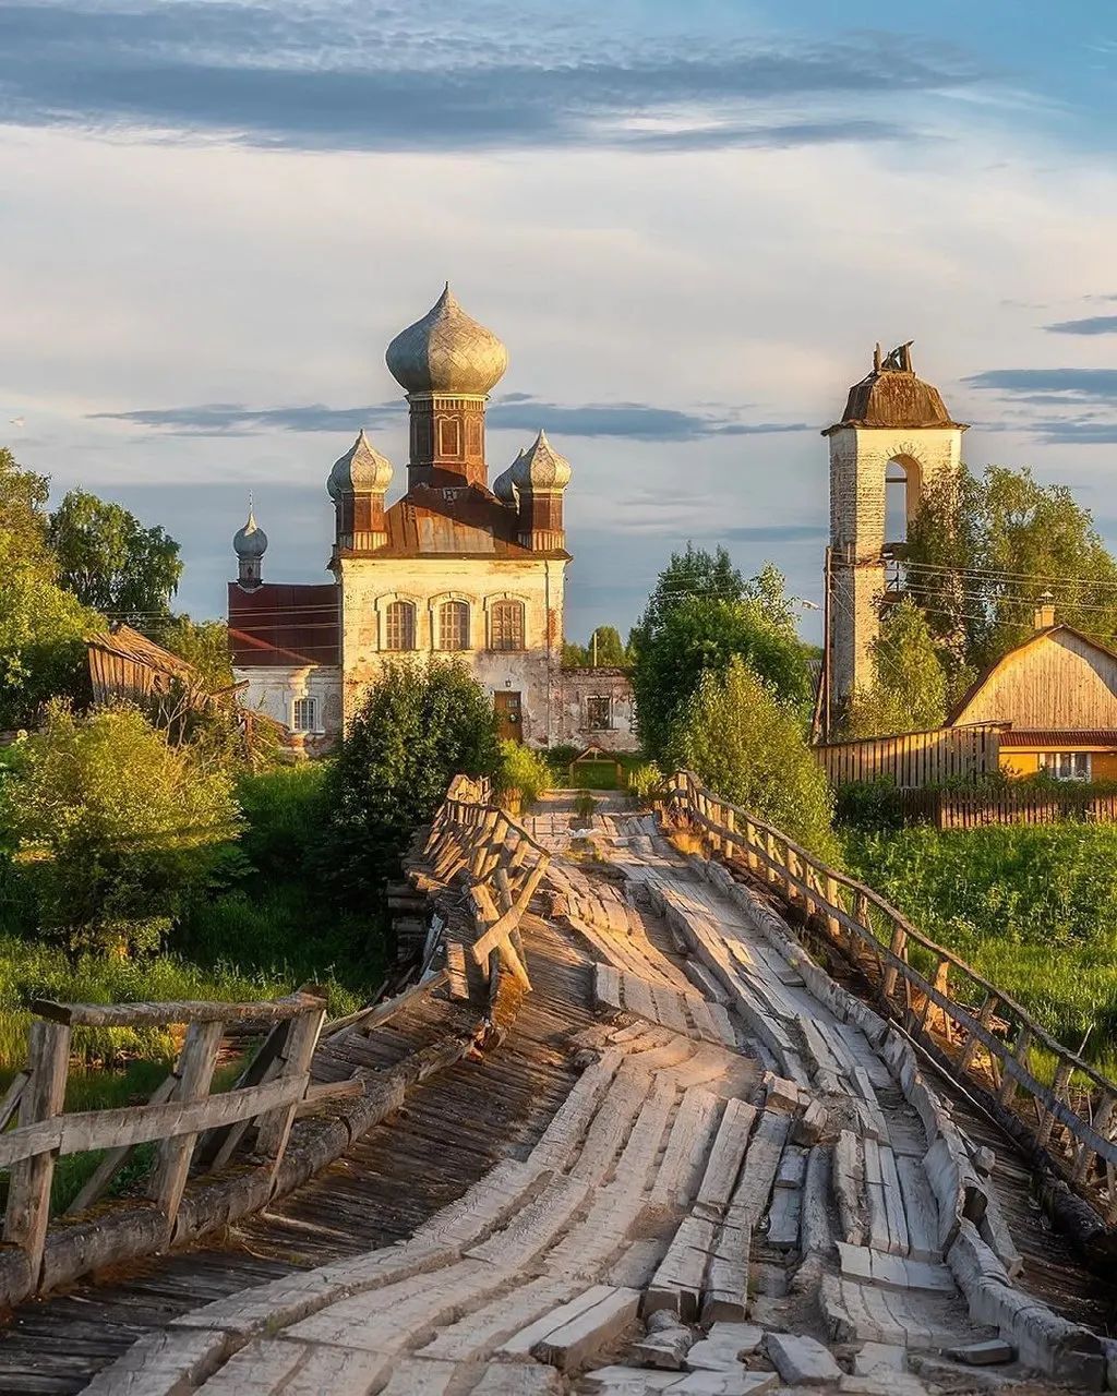
[[[1097,0],[0,3],[0,444],[162,524],[198,617],[250,491],[325,581],[448,278],[510,350],[490,477],[574,468],[574,639],[687,539],[817,603],[877,341],[1117,544],[1116,60]]]

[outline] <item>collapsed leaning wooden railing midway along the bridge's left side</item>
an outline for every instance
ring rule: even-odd
[[[471,953],[489,972],[491,1001],[497,962],[525,991],[532,987],[519,921],[550,854],[490,799],[487,782],[455,776],[430,826],[423,857],[440,882],[464,882],[476,924]]]

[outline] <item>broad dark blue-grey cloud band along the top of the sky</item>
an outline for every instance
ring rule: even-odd
[[[588,6],[577,24],[528,8],[7,4],[0,120],[300,149],[787,148],[899,138],[898,95],[989,77],[896,35],[624,34]]]

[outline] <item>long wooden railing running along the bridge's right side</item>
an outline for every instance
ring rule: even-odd
[[[690,772],[672,776],[667,794],[673,818],[822,930],[870,979],[891,1016],[959,1078],[987,1092],[1000,1111],[1011,1113],[1106,1222],[1117,1222],[1117,1083],[863,882],[828,867]],[[1050,1083],[1040,1075],[1049,1068]]]

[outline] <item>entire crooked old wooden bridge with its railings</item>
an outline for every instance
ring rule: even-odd
[[[0,1393],[1117,1386],[1117,1087],[687,773],[570,822],[455,780],[417,983],[339,1023],[313,987],[38,1005]],[[187,1025],[175,1072],[66,1113],[70,1032],[124,1015]],[[103,1201],[144,1142],[148,1195]]]

